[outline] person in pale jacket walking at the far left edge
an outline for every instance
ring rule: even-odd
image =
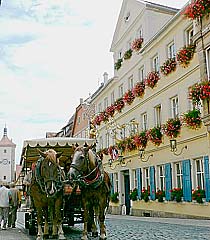
[[[0,187],[0,227],[2,224],[2,229],[6,230],[8,213],[9,213],[9,203],[12,200],[10,189],[5,186]]]

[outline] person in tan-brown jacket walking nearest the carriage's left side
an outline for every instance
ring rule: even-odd
[[[10,201],[10,209],[8,216],[8,227],[15,228],[17,220],[17,210],[21,206],[21,194],[20,191],[15,187],[15,183],[10,184],[10,192],[12,200]]]

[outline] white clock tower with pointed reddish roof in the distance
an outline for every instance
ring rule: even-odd
[[[0,141],[0,183],[15,181],[15,148],[16,144],[7,137],[7,128]]]

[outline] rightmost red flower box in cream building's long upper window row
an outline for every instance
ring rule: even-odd
[[[195,45],[188,45],[181,48],[177,54],[176,59],[182,67],[188,67],[195,53]]]

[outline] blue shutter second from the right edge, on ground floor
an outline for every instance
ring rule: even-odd
[[[190,160],[182,161],[183,197],[184,201],[192,201],[192,181]]]

